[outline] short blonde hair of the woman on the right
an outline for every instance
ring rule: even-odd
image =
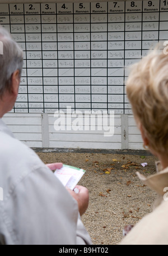
[[[168,55],[155,50],[133,65],[127,95],[149,147],[168,153]]]

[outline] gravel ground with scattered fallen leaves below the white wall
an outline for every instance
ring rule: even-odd
[[[94,245],[116,245],[125,225],[136,225],[152,211],[156,193],[139,181],[136,171],[148,176],[156,172],[153,156],[102,153],[43,153],[44,163],[63,162],[86,170],[79,185],[90,192],[90,203],[82,221]],[[147,162],[147,167],[141,163]]]

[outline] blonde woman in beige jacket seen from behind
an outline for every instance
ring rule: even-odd
[[[143,184],[157,192],[159,200],[154,211],[133,227],[121,244],[168,244],[168,55],[165,51],[155,50],[133,65],[127,95],[144,147],[160,160],[155,175],[137,174]]]

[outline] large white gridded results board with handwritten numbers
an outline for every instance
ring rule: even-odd
[[[0,24],[24,51],[13,112],[132,113],[127,67],[167,40],[167,1],[2,2]]]

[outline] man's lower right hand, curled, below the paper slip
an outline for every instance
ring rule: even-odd
[[[79,209],[80,215],[82,216],[82,214],[86,212],[88,207],[88,199],[89,199],[88,189],[78,185],[76,186],[76,188],[79,190],[78,194],[76,194],[74,191],[72,191],[69,188],[67,188],[67,190],[73,196],[73,198],[77,200],[78,209]]]

